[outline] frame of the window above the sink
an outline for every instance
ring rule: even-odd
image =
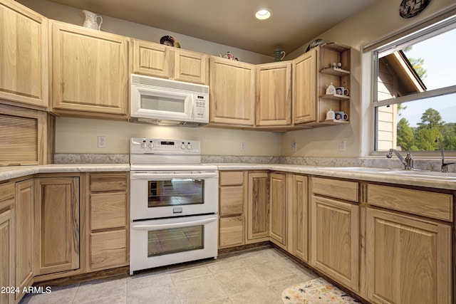
[[[369,52],[372,56],[372,81],[371,81],[371,108],[372,108],[372,119],[373,119],[373,142],[371,143],[371,155],[383,154],[384,150],[378,150],[378,117],[377,117],[377,108],[383,107],[385,105],[396,105],[399,103],[409,103],[416,100],[423,100],[426,98],[432,98],[448,94],[456,94],[456,85],[450,85],[444,88],[438,88],[434,90],[427,90],[422,93],[413,93],[410,95],[404,95],[396,98],[388,98],[386,100],[378,100],[378,63],[379,58],[387,56],[390,53],[395,51],[402,50],[407,46],[413,46],[416,43],[425,41],[428,38],[432,38],[445,33],[447,31],[452,31],[456,28],[456,14],[450,17],[447,17],[443,20],[432,23],[430,26],[425,28],[417,29],[413,33],[405,34],[401,38],[397,38],[394,41],[385,43],[383,46],[373,48]],[[379,43],[378,43],[379,44]],[[377,45],[378,45],[377,44]],[[413,154],[423,155],[423,156],[437,156],[437,153],[440,155],[439,151],[414,151]],[[456,156],[455,151],[445,151],[445,154],[448,156]]]

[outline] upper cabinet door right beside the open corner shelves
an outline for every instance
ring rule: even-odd
[[[316,120],[317,51],[299,56],[293,61],[293,123]]]

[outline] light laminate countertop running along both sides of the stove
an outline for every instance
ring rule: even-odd
[[[341,167],[314,167],[296,164],[214,164],[220,171],[225,170],[271,170],[301,174],[318,175],[323,177],[339,177],[343,179],[358,179],[371,182],[384,182],[390,184],[405,184],[419,187],[456,190],[456,174],[448,173],[444,177],[426,177],[423,175],[390,175],[378,172],[356,171]],[[128,172],[130,164],[46,164],[37,166],[11,166],[0,167],[0,182],[18,177],[26,177],[38,173],[66,173],[66,172]],[[404,172],[406,174],[407,172]],[[454,177],[454,179],[452,178]]]

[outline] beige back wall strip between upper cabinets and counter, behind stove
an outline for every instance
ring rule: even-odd
[[[106,147],[98,148],[98,136]],[[132,122],[56,118],[56,153],[128,154],[130,137],[200,140],[204,155],[280,156],[280,133],[212,127],[162,127]],[[245,151],[239,151],[245,142]]]

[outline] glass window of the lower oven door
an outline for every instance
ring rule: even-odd
[[[147,257],[204,248],[204,226],[147,231]]]

